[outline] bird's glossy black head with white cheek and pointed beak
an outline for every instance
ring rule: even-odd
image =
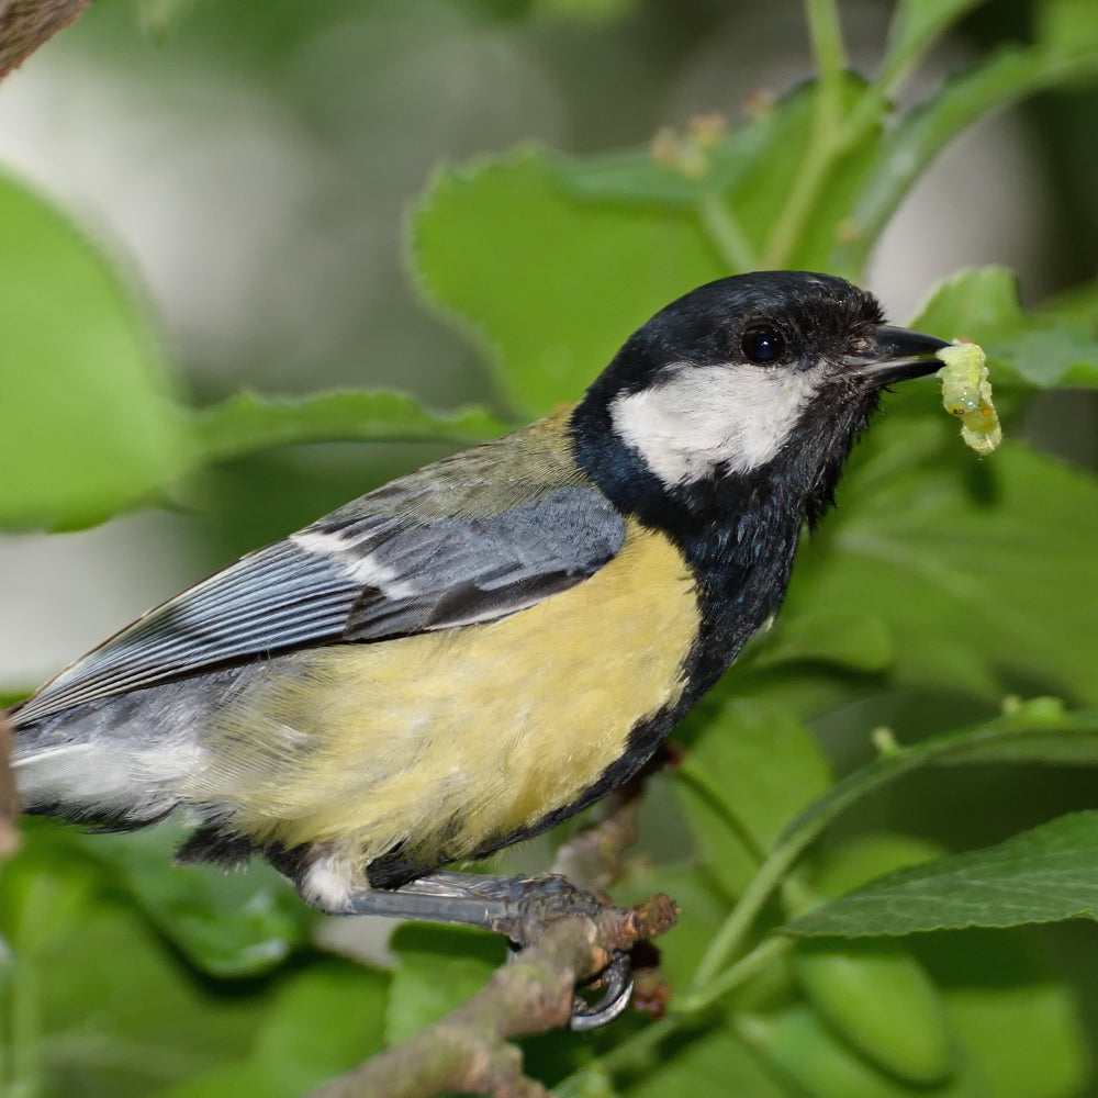
[[[581,462],[626,506],[652,490],[706,496],[735,479],[773,484],[815,518],[881,391],[941,366],[944,340],[883,320],[872,294],[826,274],[699,287],[637,330],[589,389],[573,421]]]

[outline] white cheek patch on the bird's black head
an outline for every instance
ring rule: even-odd
[[[764,466],[789,437],[822,373],[820,367],[746,363],[668,369],[661,384],[617,397],[610,418],[669,486],[703,480],[720,464],[733,472]]]

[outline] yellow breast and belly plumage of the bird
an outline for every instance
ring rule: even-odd
[[[468,856],[574,802],[677,699],[693,582],[627,528],[595,575],[482,625],[271,660],[205,737],[189,797],[259,841],[335,843],[365,864]]]

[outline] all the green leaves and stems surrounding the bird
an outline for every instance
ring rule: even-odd
[[[413,278],[483,352],[506,422],[574,397],[624,334],[696,283],[758,266],[861,278],[961,130],[1098,75],[1089,13],[1058,0],[1040,7],[1032,42],[894,115],[975,5],[900,0],[884,60],[861,79],[834,5],[807,0],[817,78],[735,130],[699,120],[651,148],[570,158],[527,145],[439,168],[412,212]],[[188,408],[139,293],[82,229],[13,180],[0,225],[15,242],[0,249],[0,455],[20,470],[0,479],[9,528],[94,523],[271,446],[467,444],[504,428],[488,410],[385,392]],[[66,324],[53,323],[60,307]],[[1096,317],[1094,287],[1027,312],[1012,276],[983,268],[938,287],[915,324],[985,346],[1009,436],[1042,390],[1098,386]],[[686,821],[688,849],[638,860],[621,882],[623,898],[680,899],[661,943],[671,1012],[529,1042],[530,1071],[557,1094],[1061,1098],[1086,1084],[1065,974],[1008,928],[1095,918],[1098,815],[1041,820],[1034,806],[1028,830],[959,853],[843,827],[923,772],[919,788],[948,797],[960,770],[975,783],[1008,764],[1098,763],[1098,481],[1009,437],[977,460],[931,385],[909,385],[859,447],[840,502],[773,631],[679,733],[683,762],[664,778],[676,808],[662,810]],[[810,731],[837,724],[874,754],[838,781]],[[871,737],[884,724],[904,746]],[[0,901],[10,1093],[300,1094],[418,1030],[498,963],[494,942],[406,928],[392,973],[352,964],[312,943],[272,873],[169,869],[172,841],[27,828]]]

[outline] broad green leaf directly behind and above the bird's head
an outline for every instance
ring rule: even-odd
[[[535,412],[578,399],[652,313],[727,273],[692,214],[579,201],[534,148],[440,171],[412,228],[424,294]]]

